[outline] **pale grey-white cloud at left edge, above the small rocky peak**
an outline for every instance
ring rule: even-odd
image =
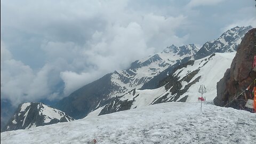
[[[56,83],[51,76],[54,67],[45,64],[36,72],[11,55],[1,42],[1,99],[9,99],[13,106],[48,99],[54,93],[51,86]],[[2,56],[5,56],[4,59]]]

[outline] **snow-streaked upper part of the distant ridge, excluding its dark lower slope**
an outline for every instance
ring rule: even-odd
[[[198,49],[194,44],[180,47],[171,45],[161,53],[133,62],[127,70],[115,71],[111,75],[111,82],[122,91],[111,93],[110,96],[120,95],[133,88],[140,89],[143,84],[163,70],[179,63],[184,58],[193,57],[197,51]]]

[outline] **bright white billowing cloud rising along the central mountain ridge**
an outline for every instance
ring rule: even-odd
[[[173,31],[182,25],[185,19],[182,15],[177,18],[165,18],[150,13],[137,22],[130,22],[127,25],[115,23],[108,25],[104,31],[96,30],[90,41],[74,54],[76,58],[72,66],[77,67],[61,72],[61,78],[65,82],[64,93],[70,94],[78,87],[116,69],[126,69],[131,62],[153,54],[157,48],[163,49],[171,43],[182,44],[186,38],[175,36]],[[148,46],[153,41],[161,41],[162,45]],[[71,52],[69,54],[73,55]],[[77,71],[79,67],[83,67],[84,70]]]

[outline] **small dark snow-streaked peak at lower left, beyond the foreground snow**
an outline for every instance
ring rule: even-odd
[[[19,106],[14,116],[6,124],[4,131],[30,129],[31,127],[74,120],[63,111],[51,108],[43,103],[27,102]]]

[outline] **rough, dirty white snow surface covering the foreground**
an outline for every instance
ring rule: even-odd
[[[167,102],[1,133],[1,143],[252,143],[256,114],[203,103]]]

